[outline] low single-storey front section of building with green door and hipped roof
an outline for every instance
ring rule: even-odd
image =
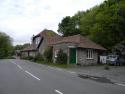
[[[99,55],[106,49],[99,44],[81,35],[63,37],[53,45],[53,60],[56,60],[57,53],[62,49],[68,56],[68,64],[96,64]]]

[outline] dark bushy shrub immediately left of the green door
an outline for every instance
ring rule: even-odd
[[[67,54],[63,52],[63,50],[59,50],[56,58],[56,63],[59,64],[67,64]]]

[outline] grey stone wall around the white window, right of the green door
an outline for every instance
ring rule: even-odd
[[[80,65],[91,65],[97,64],[98,62],[98,52],[93,50],[93,59],[87,59],[87,49],[77,49],[77,64]]]

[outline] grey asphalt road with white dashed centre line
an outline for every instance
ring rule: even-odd
[[[125,87],[24,60],[0,60],[0,94],[125,94]]]

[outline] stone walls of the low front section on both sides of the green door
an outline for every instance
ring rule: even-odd
[[[77,47],[76,44],[73,43],[61,43],[61,44],[56,44],[53,46],[53,60],[55,62],[56,57],[55,57],[55,52],[59,51],[59,49],[62,49],[63,52],[67,53],[68,56],[68,61],[69,63],[69,48],[70,47]],[[93,50],[93,59],[87,59],[87,49],[83,48],[77,48],[76,52],[76,63],[80,65],[91,65],[91,64],[97,64],[98,62],[98,52],[97,50]]]

